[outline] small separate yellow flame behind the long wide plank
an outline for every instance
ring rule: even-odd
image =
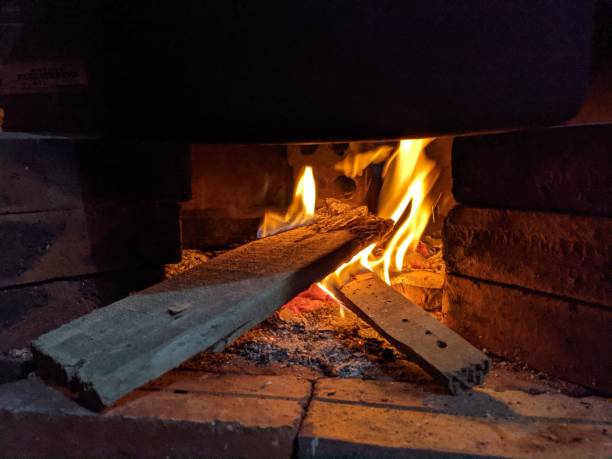
[[[296,226],[306,225],[314,219],[317,200],[316,186],[312,167],[306,166],[298,180],[293,200],[285,214],[267,210],[257,231],[258,237],[271,236]]]

